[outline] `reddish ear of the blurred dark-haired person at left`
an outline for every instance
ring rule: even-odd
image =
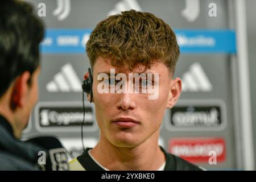
[[[14,83],[13,94],[11,95],[11,108],[23,107],[27,102],[28,94],[28,80],[30,79],[30,72],[23,72],[18,76]]]

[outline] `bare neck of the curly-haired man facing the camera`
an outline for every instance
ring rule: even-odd
[[[101,135],[100,142],[90,154],[110,170],[157,170],[166,159],[158,145],[158,134],[153,135],[133,148],[114,146]]]

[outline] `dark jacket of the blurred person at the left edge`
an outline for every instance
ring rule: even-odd
[[[0,170],[39,170],[40,150],[16,139],[10,123],[0,115]]]

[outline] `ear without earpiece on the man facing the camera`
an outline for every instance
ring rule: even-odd
[[[175,78],[171,81],[167,108],[171,109],[179,100],[181,94],[181,79]]]

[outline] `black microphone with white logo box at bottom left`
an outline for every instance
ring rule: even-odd
[[[45,151],[39,151],[38,163],[43,171],[68,171],[68,154],[67,150],[62,146],[59,139],[55,137],[35,137],[26,140],[44,148]]]

